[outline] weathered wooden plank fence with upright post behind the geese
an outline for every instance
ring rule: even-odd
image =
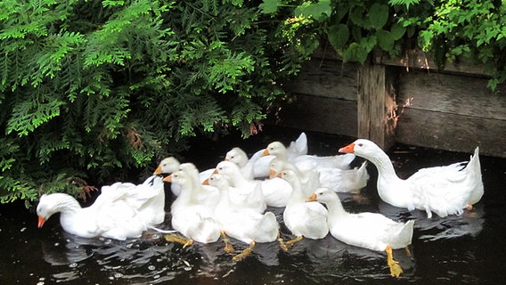
[[[373,64],[343,64],[315,53],[294,80],[278,124],[329,134],[506,158],[506,85],[492,92],[483,68],[448,65],[423,53],[405,59],[377,54]]]

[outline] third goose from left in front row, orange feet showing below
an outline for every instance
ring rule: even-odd
[[[222,231],[227,236],[249,244],[241,254],[233,256],[233,260],[248,256],[257,242],[272,242],[277,239],[280,227],[273,212],[260,214],[237,204],[230,195],[228,178],[224,175],[211,175],[208,181],[220,191],[220,201],[215,214]],[[230,245],[227,248],[233,250]]]

